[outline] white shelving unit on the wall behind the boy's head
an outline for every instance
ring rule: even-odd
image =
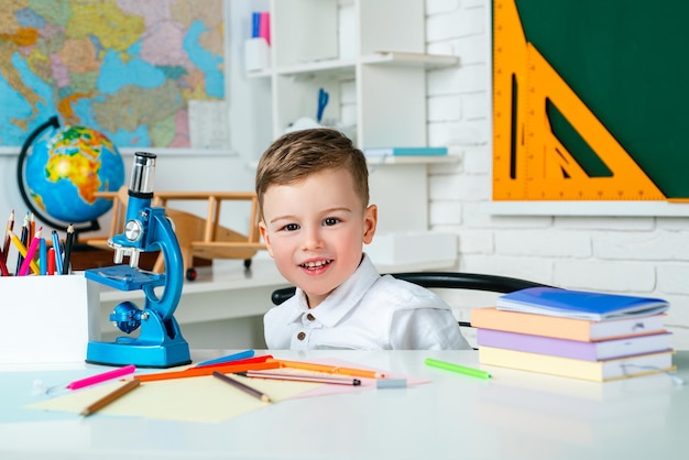
[[[271,66],[248,73],[270,81],[272,139],[316,118],[360,149],[427,145],[426,74],[457,66],[426,54],[424,0],[271,0]],[[453,157],[371,158],[379,234],[428,230],[427,165]]]

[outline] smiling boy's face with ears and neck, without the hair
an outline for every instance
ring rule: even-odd
[[[378,211],[375,205],[363,209],[348,171],[327,169],[269,187],[263,218],[259,228],[277,270],[314,308],[359,266]]]

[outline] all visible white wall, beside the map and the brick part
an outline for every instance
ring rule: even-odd
[[[241,73],[241,19],[253,4],[229,4],[233,151],[225,156],[161,156],[160,190],[252,188],[252,162],[264,147],[255,141],[255,130],[270,129],[270,113],[254,110],[252,101],[269,96]],[[429,144],[448,145],[460,158],[429,169],[431,229],[458,234],[457,269],[463,272],[666,298],[671,303],[666,325],[675,333],[674,347],[689,349],[689,218],[505,217],[486,211],[492,162],[490,7],[489,0],[426,0],[428,52],[460,58],[457,68],[428,72]],[[20,208],[15,164],[13,154],[0,154],[0,219],[12,207]],[[472,307],[494,300],[492,295],[466,292],[441,295],[462,320],[470,319]]]

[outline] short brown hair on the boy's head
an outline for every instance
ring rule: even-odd
[[[369,205],[369,169],[363,152],[341,132],[315,128],[284,134],[263,152],[256,169],[261,213],[269,187],[294,184],[326,169],[347,169],[362,206]]]

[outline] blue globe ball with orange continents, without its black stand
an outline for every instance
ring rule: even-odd
[[[124,183],[122,156],[99,131],[47,124],[23,158],[32,208],[64,222],[94,222],[112,207],[111,200],[96,193],[116,191]]]

